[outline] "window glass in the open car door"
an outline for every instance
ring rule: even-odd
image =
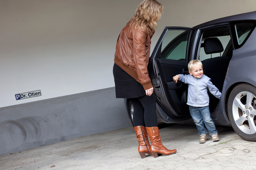
[[[161,47],[161,58],[186,60],[187,44],[190,31],[169,30],[164,36]]]

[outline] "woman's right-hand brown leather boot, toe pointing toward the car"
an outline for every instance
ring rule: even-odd
[[[146,130],[151,142],[150,151],[154,156],[154,158],[158,157],[158,154],[167,156],[167,155],[175,154],[177,152],[176,149],[168,150],[164,147],[164,145],[161,142],[161,137],[160,137],[158,127],[146,127]]]

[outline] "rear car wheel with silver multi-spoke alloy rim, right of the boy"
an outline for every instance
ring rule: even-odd
[[[239,84],[228,100],[228,116],[235,132],[247,141],[256,141],[256,88]]]

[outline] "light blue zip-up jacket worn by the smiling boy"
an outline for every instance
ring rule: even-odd
[[[198,79],[192,75],[178,74],[182,81],[189,85],[188,89],[188,102],[187,105],[194,107],[204,107],[209,106],[209,96],[207,93],[207,88],[216,98],[220,99],[221,93],[215,85],[212,84],[211,79],[203,74],[203,76]]]

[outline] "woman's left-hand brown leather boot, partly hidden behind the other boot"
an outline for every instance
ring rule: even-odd
[[[150,145],[148,142],[148,134],[145,126],[136,126],[134,127],[137,140],[139,141],[139,154],[141,158],[145,158],[146,154],[152,155],[150,152]]]

